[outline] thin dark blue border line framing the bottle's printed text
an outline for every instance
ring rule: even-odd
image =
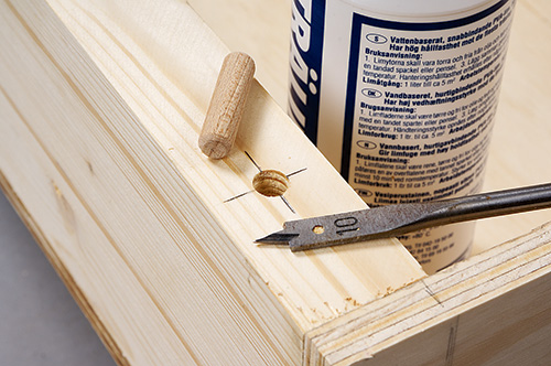
[[[348,82],[346,90],[346,104],[345,104],[345,116],[344,116],[344,138],[343,138],[343,154],[341,162],[341,174],[345,180],[348,181],[350,171],[350,149],[352,149],[352,134],[354,127],[354,109],[356,103],[356,80],[358,77],[358,60],[359,60],[359,44],[361,37],[361,26],[364,24],[372,25],[377,28],[385,28],[390,30],[399,31],[437,31],[437,30],[450,30],[454,28],[460,28],[464,25],[477,22],[494,12],[498,11],[510,0],[501,0],[496,4],[489,7],[488,9],[462,19],[435,22],[435,23],[403,23],[395,22],[388,20],[375,19],[358,13],[354,13],[352,23],[352,35],[350,35],[350,58],[348,61]]]

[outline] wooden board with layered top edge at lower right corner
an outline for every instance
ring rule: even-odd
[[[548,223],[309,332],[304,365],[543,365],[550,283]]]

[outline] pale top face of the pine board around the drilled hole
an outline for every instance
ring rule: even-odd
[[[285,273],[287,280],[282,287],[296,282],[295,279],[301,277],[300,272],[303,271],[301,267],[307,268],[306,271],[312,271],[309,273],[311,278],[328,277],[320,289],[324,291],[322,289],[326,288],[327,293],[318,293],[324,300],[320,301],[316,306],[307,306],[309,299],[296,299],[299,300],[296,305],[305,305],[303,311],[310,312],[307,308],[315,308],[322,316],[328,317],[335,316],[336,311],[344,311],[346,303],[343,302],[342,294],[329,290],[331,281],[335,280],[345,287],[357,287],[358,294],[364,292],[364,298],[367,292],[371,294],[386,292],[389,284],[375,289],[370,287],[376,286],[377,280],[368,284],[369,281],[363,278],[364,276],[366,278],[380,276],[383,280],[387,277],[389,279],[393,277],[393,274],[388,274],[385,265],[378,263],[372,250],[388,250],[385,255],[381,252],[381,257],[385,258],[388,255],[390,260],[395,250],[400,257],[398,262],[403,268],[399,270],[399,273],[401,271],[408,273],[407,280],[402,279],[400,280],[402,282],[397,281],[390,286],[399,288],[403,282],[411,280],[409,271],[418,270],[418,266],[411,261],[407,265],[410,257],[396,243],[388,245],[388,241],[382,241],[380,245],[371,246],[360,244],[356,246],[356,248],[361,248],[359,252],[350,246],[346,249],[321,252],[321,256],[307,254],[298,256],[279,250],[279,248],[259,250],[250,245],[252,239],[279,229],[283,220],[296,216],[280,200],[269,200],[257,194],[223,204],[234,194],[248,191],[253,175],[258,172],[242,151],[248,151],[264,169],[277,169],[289,173],[307,168],[307,171],[291,180],[291,189],[287,194],[287,198],[299,216],[346,211],[352,207],[364,207],[364,204],[329,168],[317,150],[306,142],[299,132],[300,129],[279,107],[273,105],[258,84],[251,88],[249,96],[251,103],[245,112],[237,141],[238,149],[234,151],[234,154],[223,162],[213,162],[197,153],[197,129],[204,120],[217,72],[227,49],[220,43],[215,46],[218,41],[206,28],[191,32],[196,26],[197,18],[187,7],[180,2],[168,2],[163,9],[158,9],[152,8],[149,1],[141,3],[132,1],[136,13],[130,14],[129,7],[126,7],[123,2],[110,3],[105,9],[97,7],[93,1],[78,3],[52,1],[51,3],[55,3],[54,10],[66,21],[73,34],[86,47],[148,132],[156,139],[164,151],[170,151],[170,159],[181,172],[185,172],[186,180],[193,182],[197,196],[208,205],[208,209],[218,216],[218,219],[223,222],[220,225],[231,233],[240,250],[249,256],[250,260],[258,266],[259,271],[266,271],[267,268],[273,268],[273,266],[282,266],[279,270],[274,270],[274,272]],[[71,13],[63,15],[64,9],[71,10]],[[138,19],[140,26],[137,26]],[[155,25],[161,23],[171,24],[171,28],[155,29]],[[145,37],[142,34],[143,30],[152,34]],[[90,37],[90,34],[94,37]],[[120,37],[118,42],[117,37]],[[171,42],[166,41],[169,37],[172,37]],[[202,43],[208,44],[209,47],[206,50],[199,47]],[[192,66],[183,67],[182,65]],[[140,88],[136,85],[140,85]],[[173,150],[170,150],[171,148]],[[311,182],[315,184],[312,185]],[[331,192],[331,194],[324,192]],[[335,194],[335,192],[338,193]],[[256,218],[252,222],[251,215]],[[264,216],[272,218],[264,219]],[[404,258],[406,262],[401,262],[401,258]],[[346,266],[346,261],[355,266]],[[365,266],[370,266],[370,270],[366,271]],[[411,269],[408,268],[409,266]],[[338,273],[338,269],[343,270],[342,274]],[[349,277],[350,272],[353,277]],[[371,272],[380,274],[371,276],[369,274]],[[399,277],[399,273],[396,276]],[[343,278],[338,279],[339,276]],[[273,286],[278,283],[276,278],[266,280]],[[305,281],[310,281],[310,278]],[[299,294],[301,291],[296,292]],[[346,293],[346,298],[348,295],[350,293]],[[303,294],[300,297],[302,298]],[[361,303],[369,299],[357,301]],[[324,302],[328,302],[329,306],[324,305]],[[323,308],[325,310],[322,310]],[[334,311],[327,308],[333,308]],[[321,321],[313,313],[307,316],[312,316],[311,320]]]

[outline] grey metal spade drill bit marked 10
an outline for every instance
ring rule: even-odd
[[[292,251],[390,238],[423,228],[551,207],[551,183],[428,203],[408,203],[285,222],[257,239]]]

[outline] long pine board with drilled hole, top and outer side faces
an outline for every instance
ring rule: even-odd
[[[258,84],[235,152],[199,152],[228,50],[185,3],[0,7],[2,187],[119,364],[299,364],[306,331],[425,276],[396,240],[252,244],[296,215],[224,203],[257,172],[245,150],[307,168],[299,216],[364,204]]]

